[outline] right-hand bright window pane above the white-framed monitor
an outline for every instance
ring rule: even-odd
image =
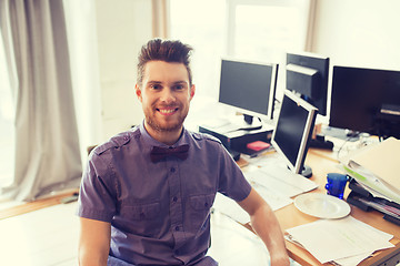
[[[228,49],[233,55],[280,61],[280,54],[303,45],[304,33],[299,27],[301,16],[297,7],[236,4],[230,16],[233,17],[230,23],[233,45]]]

